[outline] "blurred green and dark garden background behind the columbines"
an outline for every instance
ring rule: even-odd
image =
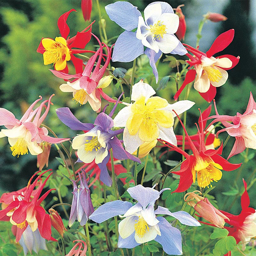
[[[115,1],[100,1],[100,10],[102,18],[106,20],[106,31],[108,38],[120,35],[124,30],[116,25],[115,22],[109,20],[105,12],[104,6]],[[138,6],[138,9],[143,12],[144,8],[153,1],[130,1],[133,5]],[[246,109],[249,93],[252,91],[256,98],[255,80],[256,80],[256,1],[226,1],[226,0],[189,0],[189,1],[166,1],[173,8],[180,4],[185,4],[182,7],[183,14],[187,22],[187,32],[184,43],[196,46],[196,34],[198,24],[203,19],[203,15],[208,11],[218,12],[226,17],[228,20],[219,23],[208,21],[202,30],[202,38],[199,44],[199,50],[207,51],[214,39],[228,29],[235,29],[235,38],[233,42],[224,50],[225,54],[232,54],[240,56],[240,62],[232,70],[228,71],[229,79],[227,83],[217,89],[216,102],[220,114],[236,115],[236,112],[244,113]],[[54,105],[50,109],[50,113],[44,121],[44,124],[50,126],[52,130],[61,138],[74,137],[76,132],[71,131],[68,127],[60,122],[57,118],[55,109],[60,107],[69,107],[75,116],[82,122],[93,122],[96,118],[96,113],[92,111],[88,103],[84,106],[77,105],[72,101],[71,93],[61,92],[59,89],[63,80],[56,78],[48,70],[52,66],[44,66],[43,56],[36,52],[38,44],[42,37],[55,38],[60,36],[57,27],[57,20],[61,14],[76,9],[77,12],[72,12],[67,20],[70,27],[70,35],[74,36],[77,31],[83,30],[90,22],[85,22],[81,12],[80,1],[76,0],[8,0],[0,1],[0,107],[10,110],[16,118],[20,119],[28,106],[34,102],[39,95],[43,99],[48,99],[52,93],[55,96],[52,99]],[[96,6],[96,1],[93,1],[91,20],[96,20],[92,27],[92,32],[99,35],[99,14]],[[115,43],[116,39],[110,41],[110,44]],[[95,50],[96,40],[92,38],[91,42],[87,44],[86,49]],[[219,55],[224,53],[220,52]],[[88,56],[90,56],[88,54]],[[162,60],[165,57],[162,57]],[[180,57],[179,57],[180,58]],[[186,56],[182,57],[186,59]],[[181,59],[181,58],[180,58]],[[152,77],[152,69],[148,64],[148,59],[140,58],[142,68],[140,73],[136,74],[135,82],[143,78],[148,81],[154,89],[158,87]],[[113,67],[123,67],[129,69],[132,63],[118,63],[111,62]],[[74,74],[75,70],[72,64],[69,66],[70,73]],[[129,71],[129,70],[128,70]],[[158,66],[159,81],[166,75],[176,73],[177,69],[169,68],[167,62],[160,62]],[[175,83],[170,80],[164,90],[158,91],[158,95],[164,97],[169,101],[173,101],[175,94]],[[128,92],[128,88],[124,88]],[[120,89],[112,84],[104,89],[110,97],[120,95]],[[181,96],[182,99],[183,96]],[[204,110],[209,104],[203,100],[199,94],[192,88],[189,94],[189,100],[196,102],[193,109],[188,111],[187,127],[189,134],[196,133],[196,126],[199,112],[197,108]],[[106,102],[103,100],[103,106]],[[212,114],[214,111],[212,111]],[[3,128],[3,127],[1,127]],[[181,129],[177,130],[177,134],[181,134]],[[227,134],[223,133],[220,138],[225,140]],[[68,147],[68,142],[65,142]],[[231,138],[223,153],[227,157],[234,140]],[[230,205],[237,190],[243,187],[242,177],[249,179],[253,170],[255,169],[255,150],[249,149],[247,155],[237,155],[230,159],[232,163],[244,163],[241,176],[236,180],[236,172],[223,172],[223,178],[214,185],[217,186],[211,193],[217,196],[218,206],[227,210],[227,205]],[[58,169],[59,162],[55,159],[58,156],[56,148],[52,146],[49,168],[53,170]],[[178,158],[170,158],[171,160],[180,160]],[[245,160],[244,160],[245,159]],[[169,167],[167,166],[167,169]],[[163,167],[165,170],[166,167]],[[167,170],[166,169],[166,170]],[[30,154],[13,157],[7,138],[0,139],[0,195],[6,191],[14,191],[23,188],[27,185],[28,179],[37,170],[36,156]],[[250,180],[255,178],[253,175]],[[225,195],[225,192],[230,191],[235,181],[236,188],[232,188],[233,194]],[[247,180],[248,181],[248,180]],[[250,182],[249,182],[250,184]],[[254,187],[254,189],[253,189]],[[173,190],[174,188],[172,188]],[[234,190],[236,189],[236,190]],[[225,196],[223,196],[223,194]],[[227,193],[226,193],[227,194]],[[255,184],[249,190],[251,198],[251,207],[256,208]],[[70,198],[69,198],[70,199]],[[231,207],[231,212],[237,214],[240,212],[239,199]]]

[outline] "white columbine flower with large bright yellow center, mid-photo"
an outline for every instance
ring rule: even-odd
[[[131,100],[135,102],[127,104],[114,118],[114,126],[124,128],[125,149],[133,153],[144,142],[152,142],[157,138],[171,141],[177,145],[173,132],[174,112],[178,115],[191,108],[195,102],[180,100],[169,104],[167,100],[158,96],[151,97],[156,92],[141,79],[132,86]]]

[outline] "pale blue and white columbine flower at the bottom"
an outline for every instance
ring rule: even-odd
[[[155,240],[163,246],[167,254],[181,255],[180,230],[173,228],[164,217],[156,218],[156,214],[170,215],[188,226],[200,226],[200,224],[187,212],[170,212],[162,206],[158,206],[154,211],[155,201],[166,189],[169,188],[164,188],[158,192],[153,188],[144,188],[141,185],[128,188],[127,192],[138,203],[132,205],[130,202],[120,200],[108,202],[95,210],[89,219],[101,223],[117,215],[124,218],[118,225],[119,239],[117,247],[119,248],[133,248]],[[123,216],[121,216],[122,214]]]

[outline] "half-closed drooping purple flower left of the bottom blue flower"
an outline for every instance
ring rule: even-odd
[[[77,219],[81,226],[84,226],[88,220],[88,217],[94,212],[92,205],[92,199],[90,197],[91,191],[86,181],[86,173],[82,169],[82,177],[78,172],[80,185],[77,187],[76,181],[72,180],[74,185],[73,200],[70,210],[70,217],[68,220],[68,226],[71,227],[74,221]]]

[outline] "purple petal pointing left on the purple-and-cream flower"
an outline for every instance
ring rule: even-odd
[[[91,130],[93,124],[81,123],[70,111],[69,108],[57,108],[57,116],[63,124],[66,124],[70,129],[75,131]]]

